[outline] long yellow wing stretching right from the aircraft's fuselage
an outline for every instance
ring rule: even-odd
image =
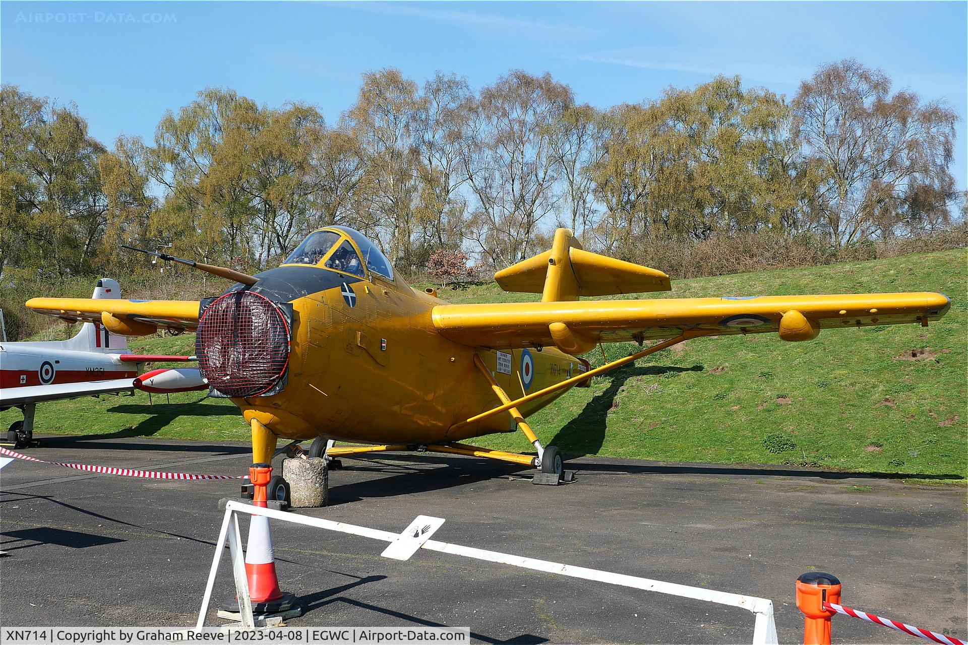
[[[821,329],[926,324],[949,306],[940,293],[441,305],[434,325],[443,337],[471,346],[558,346],[581,354],[598,342],[671,338],[684,330],[809,340]]]

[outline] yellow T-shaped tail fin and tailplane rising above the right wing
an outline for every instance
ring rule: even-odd
[[[502,269],[494,279],[504,291],[540,293],[543,303],[672,288],[669,276],[657,269],[582,249],[567,228],[555,231],[551,250]]]

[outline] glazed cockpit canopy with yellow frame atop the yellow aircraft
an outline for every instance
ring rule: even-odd
[[[393,267],[377,245],[347,226],[327,226],[310,233],[283,264],[321,264],[360,278],[366,277],[365,265],[371,273],[393,279]]]

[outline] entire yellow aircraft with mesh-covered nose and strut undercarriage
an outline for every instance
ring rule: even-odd
[[[237,283],[201,302],[35,298],[27,307],[126,336],[197,331],[210,395],[242,409],[254,461],[266,463],[285,437],[315,439],[311,456],[431,451],[560,475],[558,449],[542,446],[525,418],[593,375],[693,337],[808,340],[821,329],[926,326],[950,307],[938,293],[579,301],[671,286],[661,271],[582,249],[565,228],[552,249],[495,275],[505,291],[540,293],[538,303],[447,305],[433,289],[411,288],[376,245],[344,226],[313,232],[282,266],[257,276],[162,257]],[[595,369],[576,358],[626,340],[660,341]],[[516,428],[536,455],[462,443]]]

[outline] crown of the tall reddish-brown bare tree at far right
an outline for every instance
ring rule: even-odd
[[[910,215],[911,206],[921,214],[918,204],[953,199],[957,116],[944,103],[891,95],[885,73],[847,59],[802,81],[793,108],[804,152],[818,161],[815,216],[838,248],[890,234],[903,223],[906,200]]]

